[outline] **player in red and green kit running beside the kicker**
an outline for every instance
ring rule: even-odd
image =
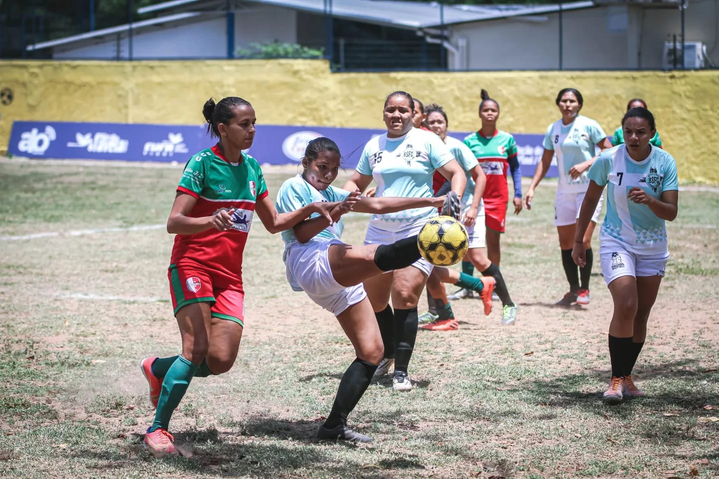
[[[177,235],[168,279],[182,353],[141,363],[157,408],[145,445],[157,457],[178,455],[168,425],[192,378],[226,373],[237,358],[244,327],[242,251],[252,215],[256,211],[267,231],[278,233],[313,213],[330,218],[336,206],[312,203],[278,214],[260,165],[242,153],[255,137],[249,102],[210,98],[202,113],[219,141],[187,162],[168,218],[168,233]]]

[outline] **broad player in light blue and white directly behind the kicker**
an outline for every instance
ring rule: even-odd
[[[432,175],[438,169],[452,181],[454,198],[462,197],[466,183],[462,167],[434,133],[413,128],[413,113],[414,102],[409,93],[390,93],[384,107],[387,134],[367,142],[357,170],[344,185],[345,190],[364,191],[370,181],[375,180],[377,197],[429,198]],[[415,236],[426,220],[436,215],[436,208],[372,215],[365,244],[393,243]],[[392,386],[395,391],[413,388],[407,367],[417,336],[417,303],[431,271],[429,261],[419,259],[412,266],[365,281],[385,346],[385,359],[377,367],[377,373],[387,373],[394,363]],[[394,311],[389,305],[390,296]]]

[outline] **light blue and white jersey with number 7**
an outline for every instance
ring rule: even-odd
[[[647,205],[638,205],[627,195],[633,187],[659,198],[661,192],[679,190],[677,164],[663,149],[651,147],[643,162],[635,162],[626,145],[602,152],[589,169],[589,178],[607,185],[607,215],[600,231],[600,253],[613,251],[613,243],[635,254],[667,251],[667,228]]]

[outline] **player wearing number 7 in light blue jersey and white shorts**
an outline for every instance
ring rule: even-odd
[[[646,108],[631,108],[622,128],[626,144],[600,154],[589,170],[572,250],[572,259],[585,266],[584,233],[606,185],[607,215],[599,233],[599,256],[614,302],[609,325],[612,378],[603,394],[611,404],[625,396],[644,395],[631,373],[669,259],[664,222],[677,218],[679,197],[674,158],[650,144],[656,134],[654,116]]]

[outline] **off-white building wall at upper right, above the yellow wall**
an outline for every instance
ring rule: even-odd
[[[562,67],[659,69],[664,40],[681,33],[679,14],[678,9],[620,5],[564,11]],[[717,66],[718,15],[719,0],[689,0],[684,19],[687,41],[704,42]],[[546,21],[498,19],[457,25],[451,28],[452,43],[467,39],[467,68],[473,70],[559,68],[559,14],[536,17]]]

